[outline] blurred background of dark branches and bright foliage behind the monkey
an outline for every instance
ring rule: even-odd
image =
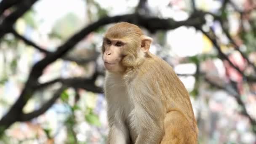
[[[104,144],[101,43],[154,39],[190,93],[199,144],[256,144],[255,0],[0,0],[0,144]]]

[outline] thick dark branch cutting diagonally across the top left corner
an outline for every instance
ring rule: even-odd
[[[17,6],[17,10],[7,16],[0,24],[0,37],[3,37],[5,33],[10,32],[15,21],[21,17],[37,0],[23,0]]]

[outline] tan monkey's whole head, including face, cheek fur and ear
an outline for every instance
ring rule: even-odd
[[[110,27],[103,39],[104,66],[109,72],[122,73],[128,67],[138,66],[148,53],[152,38],[127,22]]]

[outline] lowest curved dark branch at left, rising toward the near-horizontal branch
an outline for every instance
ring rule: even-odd
[[[47,101],[45,104],[43,104],[43,106],[38,109],[35,110],[33,112],[27,113],[27,114],[23,114],[21,116],[21,120],[20,121],[29,121],[34,117],[38,117],[39,115],[42,115],[44,112],[46,112],[53,104],[54,102],[60,97],[61,93],[65,90],[65,87],[61,87],[58,91],[56,91],[56,93],[54,93],[53,97]]]

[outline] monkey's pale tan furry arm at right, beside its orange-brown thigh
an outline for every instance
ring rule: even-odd
[[[135,144],[159,144],[164,135],[163,121],[165,115],[160,97],[145,87],[133,87],[130,90],[135,103],[132,117],[134,123],[132,125],[138,128]]]

